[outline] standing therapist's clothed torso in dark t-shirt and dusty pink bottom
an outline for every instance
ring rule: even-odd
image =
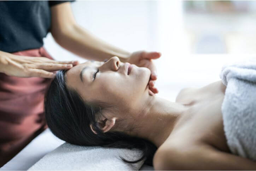
[[[53,59],[43,46],[51,6],[65,1],[0,1],[0,51]],[[0,73],[0,167],[47,128],[43,99],[52,79]]]

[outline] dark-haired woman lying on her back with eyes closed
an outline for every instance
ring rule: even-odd
[[[238,141],[244,151],[235,150],[223,126],[222,81],[182,89],[170,102],[149,91],[149,79],[149,69],[117,57],[59,71],[45,99],[48,127],[75,145],[141,149],[141,159],[122,159],[155,170],[256,170],[256,121],[254,137]],[[250,138],[254,146],[245,147]]]

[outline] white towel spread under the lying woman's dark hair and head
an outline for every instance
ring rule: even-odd
[[[119,156],[134,161],[141,155],[138,149],[85,147],[66,142],[45,155],[29,170],[139,170],[144,160],[128,164]]]

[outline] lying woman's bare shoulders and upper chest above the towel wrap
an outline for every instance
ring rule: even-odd
[[[182,113],[153,158],[155,170],[256,170],[256,162],[231,154],[223,130],[222,81],[202,88],[182,89],[176,102]]]

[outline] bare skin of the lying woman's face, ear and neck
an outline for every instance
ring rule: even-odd
[[[92,68],[86,70],[81,82],[79,75],[85,66]],[[124,131],[123,128],[140,126],[133,131],[124,132],[144,137],[159,147],[169,134],[169,131],[162,130],[166,129],[166,125],[171,129],[170,125],[177,121],[180,113],[187,107],[152,94],[148,87],[149,69],[134,65],[127,75],[124,66],[125,63],[120,62],[117,57],[111,58],[104,64],[82,63],[66,72],[67,86],[75,89],[86,102],[101,100],[111,106],[103,110],[108,120],[105,117],[100,117],[98,120],[103,124],[104,132]],[[93,80],[93,73],[97,71],[97,67],[99,72]],[[159,110],[161,108],[166,110]],[[149,131],[148,128],[152,129]]]

